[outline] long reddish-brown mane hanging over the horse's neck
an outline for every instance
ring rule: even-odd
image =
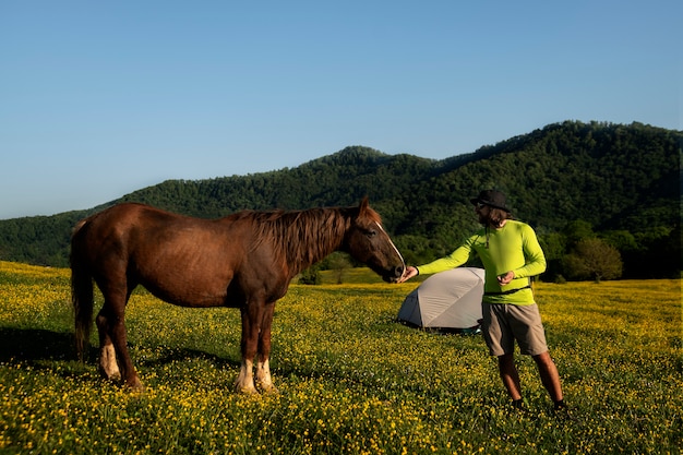
[[[233,214],[254,223],[253,249],[264,242],[273,246],[277,260],[297,273],[337,250],[344,241],[351,219],[359,207],[324,207],[305,211],[243,211]],[[370,221],[381,225],[380,215],[368,207],[363,212]]]

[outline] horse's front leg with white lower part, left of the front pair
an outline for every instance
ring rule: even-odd
[[[254,301],[248,301],[240,310],[242,316],[242,339],[240,342],[242,363],[240,366],[240,374],[237,376],[237,381],[235,381],[235,390],[238,393],[256,393],[253,367],[259,346],[263,311],[263,303]]]

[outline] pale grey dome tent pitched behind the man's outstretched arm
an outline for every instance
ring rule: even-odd
[[[406,297],[398,321],[436,332],[472,333],[481,320],[483,268],[434,274]]]

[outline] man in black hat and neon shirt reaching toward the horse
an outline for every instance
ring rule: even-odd
[[[486,270],[482,333],[489,351],[498,357],[501,380],[513,406],[524,407],[514,359],[516,340],[522,354],[536,361],[554,409],[564,408],[560,375],[548,352],[530,286],[530,278],[546,271],[546,258],[536,232],[529,225],[512,219],[505,195],[500,191],[482,191],[471,203],[483,228],[450,255],[426,265],[408,266],[400,283],[418,274],[458,267],[478,254]]]

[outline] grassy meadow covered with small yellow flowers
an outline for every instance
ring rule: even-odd
[[[99,379],[94,348],[76,361],[69,271],[0,262],[0,454],[681,453],[680,280],[537,285],[567,419],[530,359],[518,360],[518,414],[481,336],[396,323],[418,283],[349,273],[346,285],[292,285],[278,303],[280,393],[255,397],[231,392],[237,310],[141,290],[127,322],[147,388],[131,394]]]

